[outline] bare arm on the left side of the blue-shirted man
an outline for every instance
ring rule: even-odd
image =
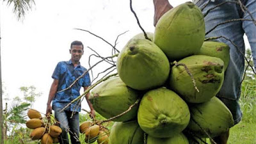
[[[46,108],[46,115],[49,113],[52,113],[52,106],[51,106],[51,102],[52,99],[54,98],[57,89],[58,89],[58,84],[59,84],[59,80],[58,79],[54,79],[51,85],[51,89],[49,92],[49,97],[48,97],[48,101],[47,101],[47,108]]]

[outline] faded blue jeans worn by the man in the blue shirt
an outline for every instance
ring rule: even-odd
[[[79,113],[74,113],[72,116],[72,111],[61,111],[61,108],[54,107],[54,115],[56,120],[60,122],[60,127],[62,133],[60,135],[60,144],[69,144],[68,132],[70,134],[70,139],[72,144],[80,144],[79,141]],[[72,118],[70,118],[72,116]]]

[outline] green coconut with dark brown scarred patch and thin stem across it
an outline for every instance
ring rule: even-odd
[[[177,62],[179,63],[186,65],[199,90],[196,90],[184,65],[174,65],[170,74],[170,88],[186,102],[206,102],[220,91],[225,71],[220,58],[195,55],[184,58]]]

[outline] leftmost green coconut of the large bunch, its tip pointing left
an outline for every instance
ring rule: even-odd
[[[120,77],[112,77],[93,88],[90,102],[93,108],[105,118],[111,118],[126,111],[138,99],[138,92],[129,88]],[[124,122],[136,118],[138,106],[113,121]]]

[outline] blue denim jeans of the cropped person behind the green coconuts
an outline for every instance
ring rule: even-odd
[[[237,0],[229,0],[237,1]],[[252,13],[254,19],[256,19],[256,0],[241,0],[242,3]],[[199,0],[196,5],[201,9],[205,6],[208,0]],[[223,3],[225,0],[211,1],[203,10],[206,13],[210,8],[213,8],[217,4]],[[239,4],[225,3],[214,10],[211,10],[205,17],[205,31],[209,31],[217,24],[225,22],[231,19],[252,19],[248,13],[243,13]],[[216,95],[223,103],[230,109],[235,124],[237,124],[242,117],[241,109],[239,107],[239,97],[241,90],[241,81],[244,74],[244,33],[248,36],[250,46],[253,54],[254,66],[256,66],[256,26],[252,21],[235,21],[228,22],[227,24],[221,24],[216,27],[211,33],[205,35],[205,37],[212,36],[225,36],[237,45],[238,49],[232,45],[231,42],[225,40],[225,38],[219,38],[214,41],[224,42],[230,47],[230,61],[228,63],[227,70],[225,72],[225,79],[220,92]],[[243,54],[242,54],[243,53]]]

